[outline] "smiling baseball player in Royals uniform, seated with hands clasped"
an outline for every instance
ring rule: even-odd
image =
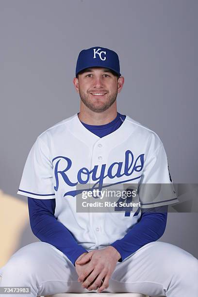
[[[28,197],[31,228],[41,241],[1,267],[0,285],[31,287],[31,297],[88,291],[197,297],[198,260],[157,242],[168,205],[179,201],[159,136],[117,112],[124,77],[115,51],[82,50],[73,83],[80,112],[37,137],[17,192]],[[119,208],[121,199],[132,203],[121,195],[114,212],[94,212],[90,205],[77,211],[83,193],[101,202],[104,189],[132,193],[132,184],[139,206]],[[152,184],[157,187],[150,191]]]

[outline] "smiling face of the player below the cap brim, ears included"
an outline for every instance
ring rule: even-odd
[[[107,68],[91,67],[74,79],[74,86],[84,105],[94,112],[103,112],[115,102],[124,78],[118,78]]]

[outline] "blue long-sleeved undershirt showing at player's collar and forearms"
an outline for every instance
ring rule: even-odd
[[[82,125],[90,132],[104,137],[117,130],[125,120],[126,115],[117,113],[116,118],[105,125]],[[34,199],[28,197],[30,225],[33,234],[43,242],[47,242],[61,250],[75,265],[77,258],[87,250],[79,245],[73,234],[54,216],[54,199]],[[158,240],[165,231],[168,206],[141,209],[141,217],[132,229],[122,238],[110,246],[120,253],[119,262],[129,257],[140,247]],[[68,218],[69,219],[69,218]]]

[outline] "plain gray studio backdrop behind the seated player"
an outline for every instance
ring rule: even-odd
[[[16,194],[36,137],[79,111],[78,53],[114,49],[118,111],[164,143],[172,179],[197,183],[197,0],[0,0],[0,188]],[[166,241],[198,258],[198,214],[168,214]],[[21,246],[37,239],[28,227]]]

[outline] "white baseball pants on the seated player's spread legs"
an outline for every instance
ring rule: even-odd
[[[97,292],[82,288],[74,265],[56,247],[45,242],[21,247],[1,267],[0,275],[0,286],[31,287],[29,297]],[[103,292],[198,297],[198,259],[169,243],[148,243],[123,262],[117,262],[109,287]]]

